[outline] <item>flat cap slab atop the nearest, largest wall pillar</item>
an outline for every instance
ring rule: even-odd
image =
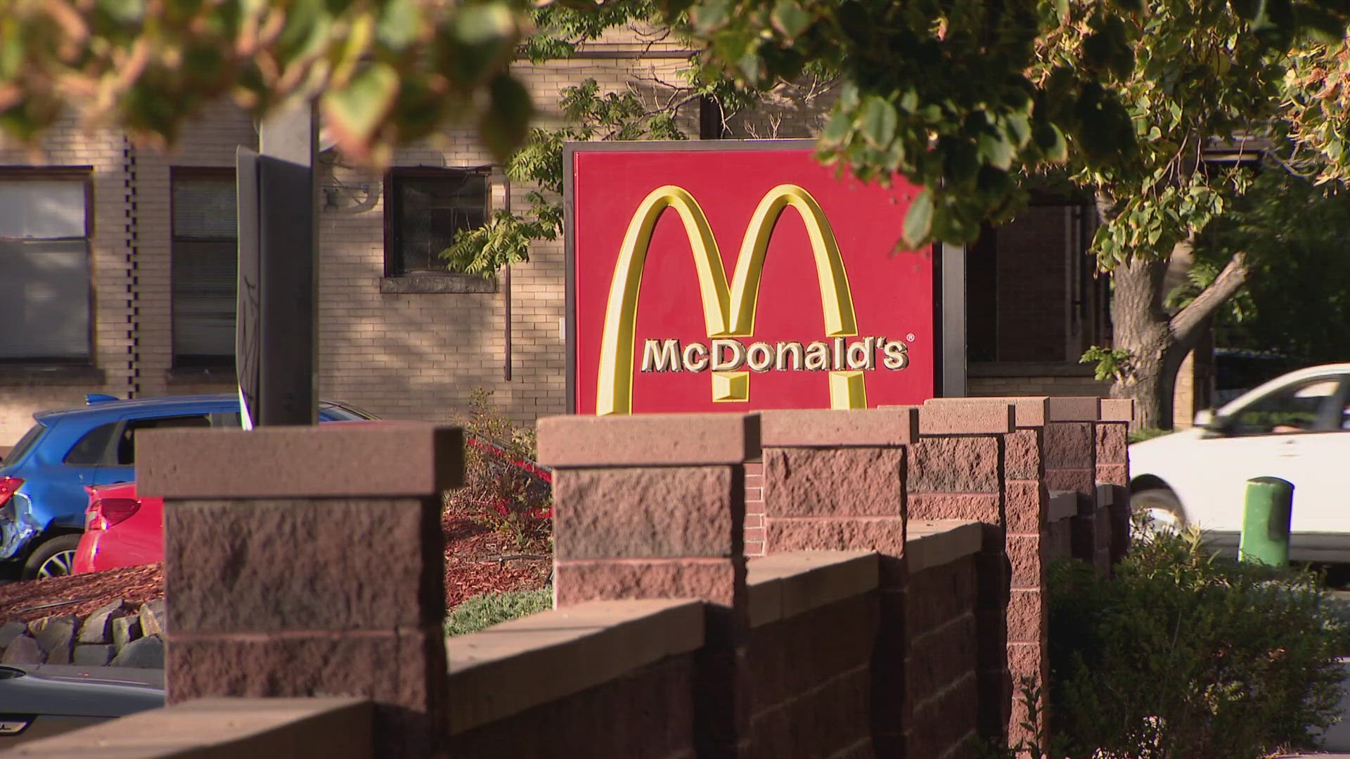
[[[336,423],[136,434],[136,492],[166,498],[435,496],[464,479],[458,427]]]

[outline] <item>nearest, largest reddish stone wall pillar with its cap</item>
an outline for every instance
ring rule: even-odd
[[[375,701],[375,752],[428,756],[446,700],[440,493],[463,436],[431,424],[143,432],[165,497],[170,704]]]

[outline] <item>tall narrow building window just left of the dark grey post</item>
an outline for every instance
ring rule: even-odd
[[[174,167],[173,366],[235,365],[239,231],[234,169]]]

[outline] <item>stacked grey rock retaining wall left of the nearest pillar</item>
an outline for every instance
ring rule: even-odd
[[[163,600],[0,625],[0,664],[163,669]]]

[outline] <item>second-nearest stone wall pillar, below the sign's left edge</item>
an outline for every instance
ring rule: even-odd
[[[539,421],[554,467],[559,608],[595,600],[701,598],[694,740],[701,758],[749,751],[745,462],[756,415],[555,416]]]

